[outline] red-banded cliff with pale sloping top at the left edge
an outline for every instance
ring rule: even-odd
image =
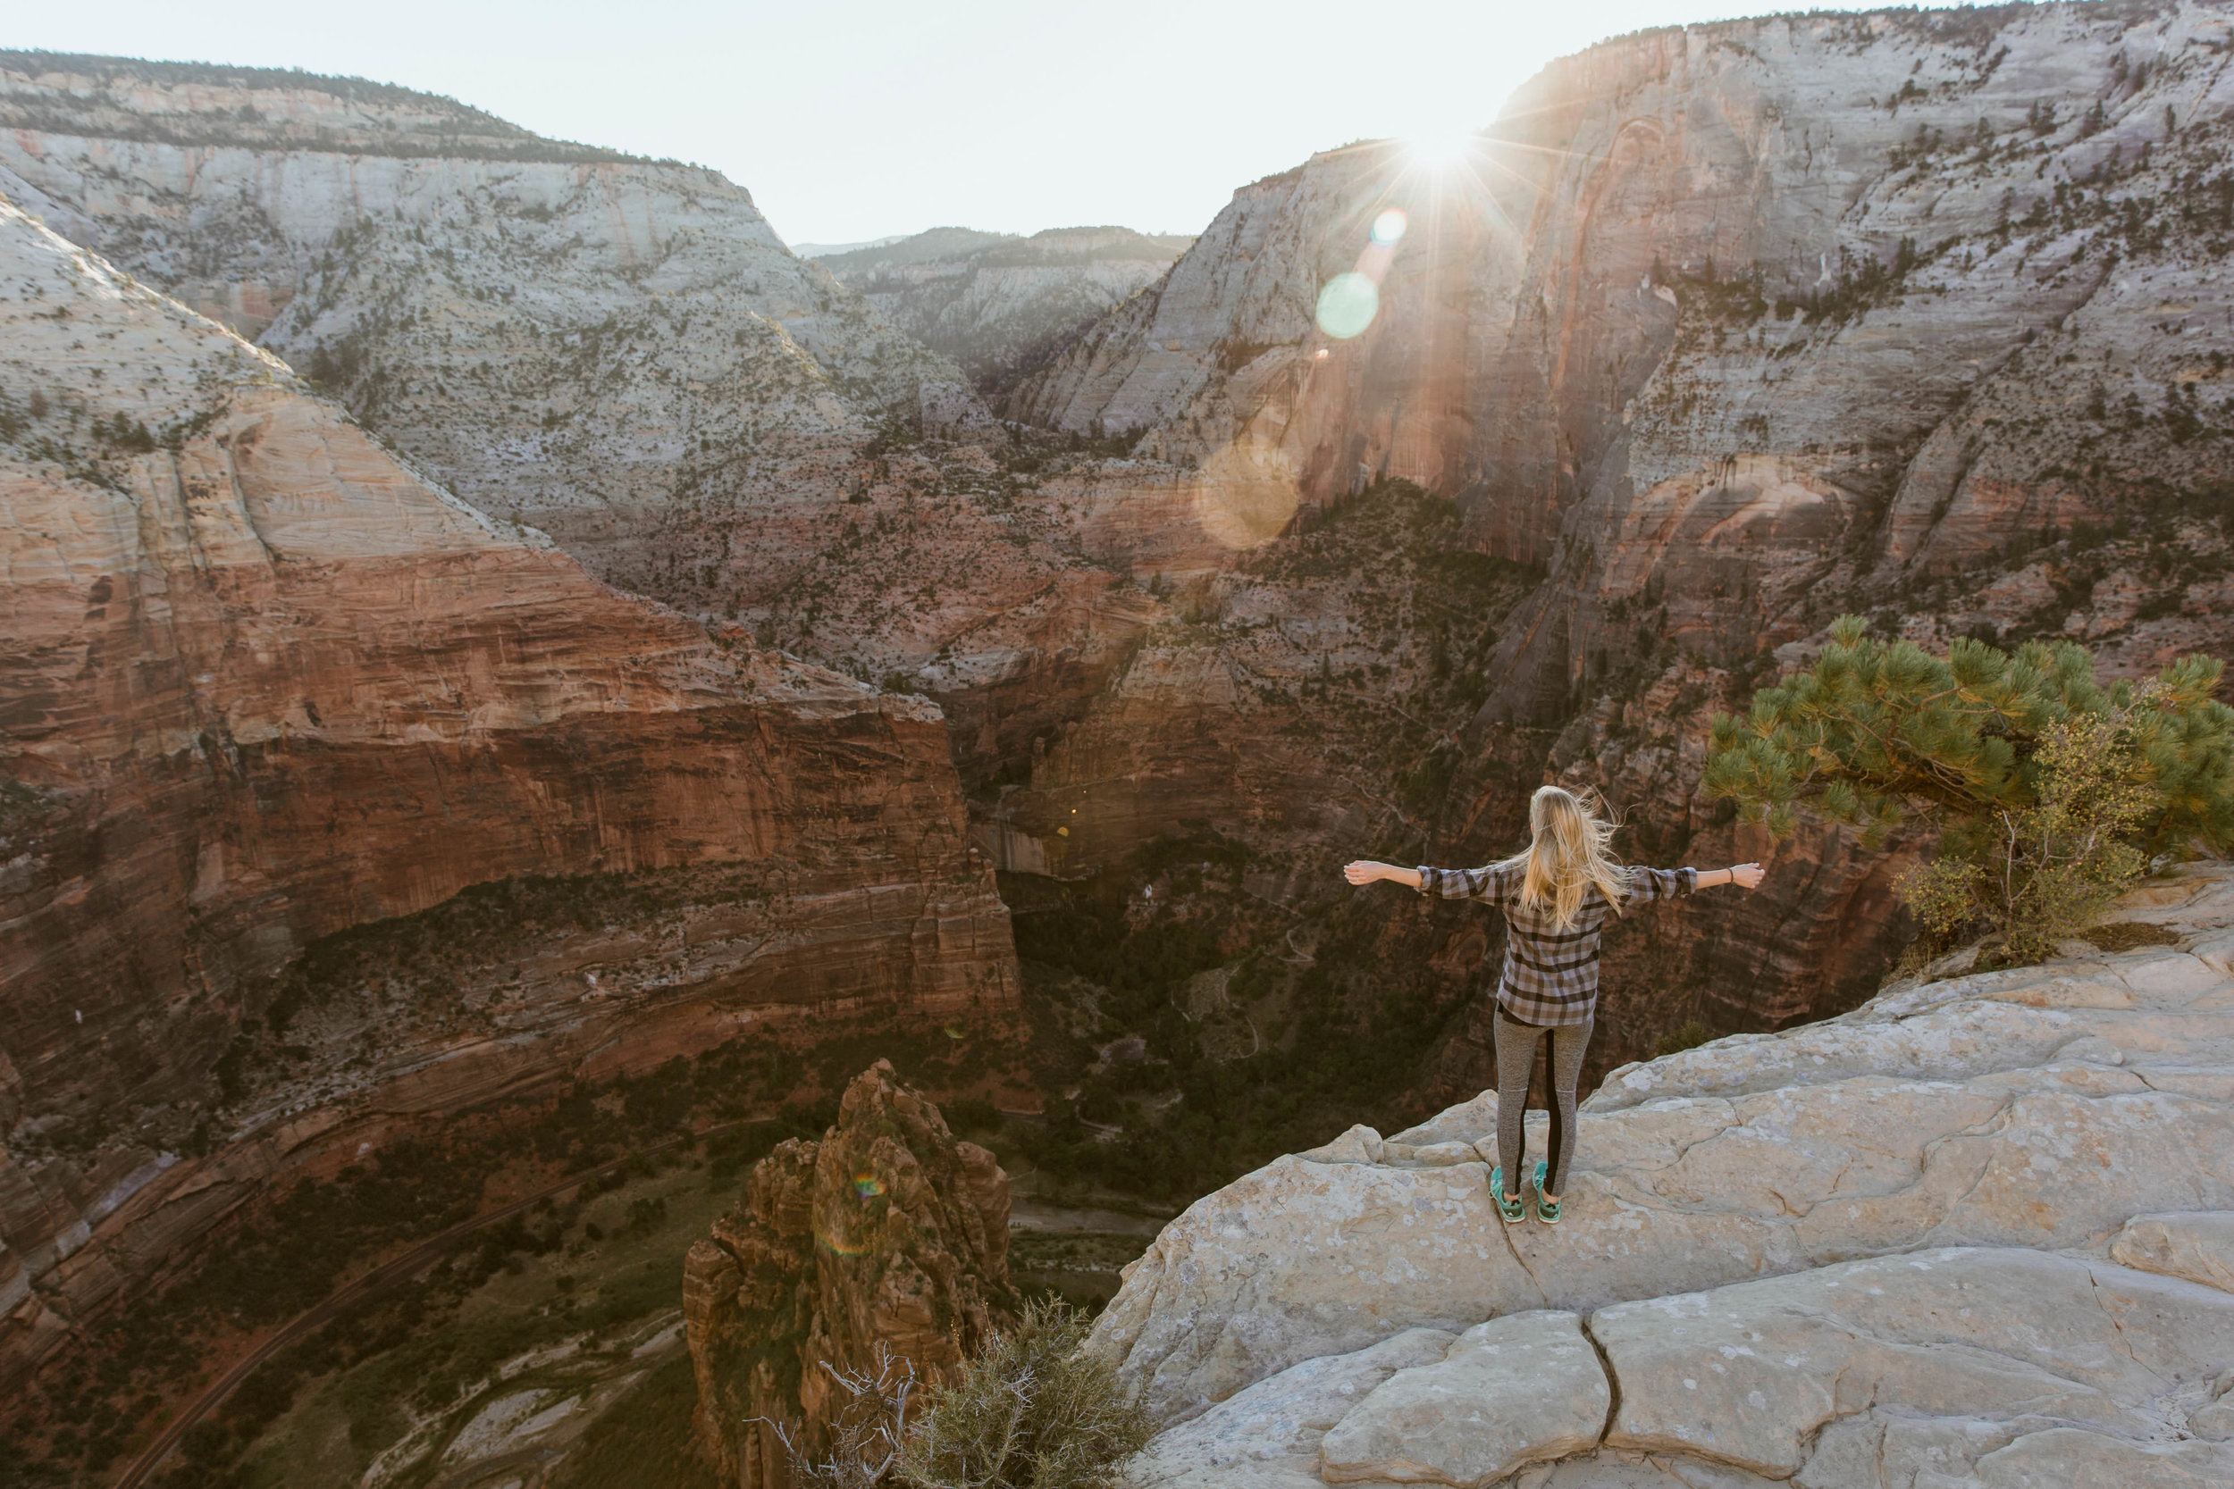
[[[0,1380],[418,1114],[1014,1007],[934,708],[614,594],[4,203],[0,509]]]

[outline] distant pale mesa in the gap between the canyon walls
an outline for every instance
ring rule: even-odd
[[[1155,284],[1193,241],[1130,228],[1048,228],[1028,239],[932,228],[818,263],[996,395]]]

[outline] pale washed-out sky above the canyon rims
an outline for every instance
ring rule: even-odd
[[[831,243],[941,225],[1200,232],[1233,188],[1314,150],[1472,129],[1555,56],[1725,13],[1747,7],[101,0],[9,7],[0,47],[402,83],[538,134],[713,165],[786,241]]]

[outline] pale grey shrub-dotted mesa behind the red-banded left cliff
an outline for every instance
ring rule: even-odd
[[[887,422],[990,426],[710,170],[402,87],[125,58],[7,54],[0,118],[18,205],[639,594],[735,614],[842,536]]]

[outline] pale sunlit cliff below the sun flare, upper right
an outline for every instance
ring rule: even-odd
[[[1506,659],[1548,721],[1640,609],[1738,663],[2214,478],[2225,42],[2212,7],[1606,42],[1454,150],[1242,188],[1012,411],[1135,433],[1229,545],[1372,478],[1457,500],[1553,569]],[[1917,609],[2064,603],[2008,580]]]

